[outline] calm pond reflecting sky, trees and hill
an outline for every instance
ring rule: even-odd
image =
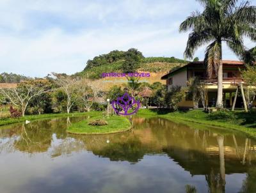
[[[0,192],[256,192],[256,141],[163,118],[72,135],[84,117],[0,127]]]

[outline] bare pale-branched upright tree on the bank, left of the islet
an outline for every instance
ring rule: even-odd
[[[54,82],[67,96],[67,113],[70,112],[71,108],[78,99],[78,80],[68,75],[60,73],[52,73],[55,79]]]

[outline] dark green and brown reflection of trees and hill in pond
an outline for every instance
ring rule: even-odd
[[[120,134],[67,134],[68,125],[79,120],[83,118],[56,118],[0,129],[0,153],[47,152],[54,158],[91,151],[111,161],[131,164],[140,162],[145,155],[168,155],[192,176],[205,176],[209,192],[225,192],[226,174],[233,173],[246,173],[241,192],[256,192],[254,139],[202,125],[191,128],[163,118],[132,118],[134,128]],[[196,188],[184,187],[186,192],[196,192]]]

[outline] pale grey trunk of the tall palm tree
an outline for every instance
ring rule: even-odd
[[[222,58],[222,57],[221,57]],[[217,102],[216,107],[218,109],[223,109],[223,65],[222,60],[218,67],[218,95],[217,95]]]

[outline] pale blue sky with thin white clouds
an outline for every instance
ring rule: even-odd
[[[130,48],[184,58],[188,33],[179,25],[195,10],[202,10],[195,0],[1,0],[0,73],[72,74],[94,56]],[[237,59],[227,47],[223,58]]]

